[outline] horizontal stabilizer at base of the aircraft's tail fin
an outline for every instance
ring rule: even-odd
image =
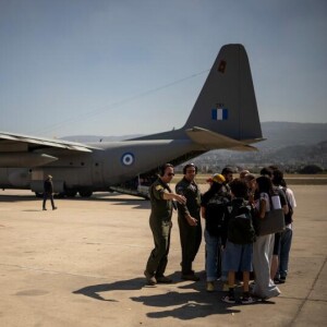
[[[196,126],[189,129],[185,132],[193,142],[203,144],[207,149],[230,148],[233,150],[256,152],[257,148],[249,145],[247,143],[263,141],[263,138],[257,138],[249,141],[243,140],[240,142],[222,134]]]

